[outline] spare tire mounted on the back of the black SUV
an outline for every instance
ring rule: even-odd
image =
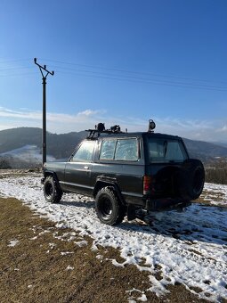
[[[177,173],[177,191],[184,200],[196,200],[203,191],[205,170],[200,160],[187,160]]]

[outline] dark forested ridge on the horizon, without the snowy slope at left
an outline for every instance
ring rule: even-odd
[[[67,134],[46,134],[47,155],[55,159],[67,159],[74,151],[77,143],[86,136],[85,131],[70,132]],[[227,147],[215,143],[196,141],[183,138],[191,158],[197,158],[203,162],[214,160],[217,157],[227,158]],[[42,129],[38,127],[17,127],[0,131],[0,161],[12,162],[11,151],[20,149],[26,145],[36,145],[42,153]],[[20,157],[21,158],[21,157]],[[15,160],[14,160],[15,162]]]

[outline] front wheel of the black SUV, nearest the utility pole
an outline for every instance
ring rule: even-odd
[[[44,182],[45,201],[58,203],[61,201],[62,192],[53,176],[46,176]]]

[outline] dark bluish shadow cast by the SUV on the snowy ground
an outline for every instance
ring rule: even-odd
[[[94,209],[94,201],[61,201],[64,206]],[[188,242],[227,245],[227,209],[192,203],[183,210],[167,210],[145,214],[114,228],[137,233],[163,234]],[[138,220],[139,219],[139,220]]]

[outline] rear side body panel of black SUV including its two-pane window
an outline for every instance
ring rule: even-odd
[[[98,159],[93,166],[93,182],[99,176],[118,184],[126,201],[142,198],[144,161],[140,139],[136,137],[108,137],[100,144]]]

